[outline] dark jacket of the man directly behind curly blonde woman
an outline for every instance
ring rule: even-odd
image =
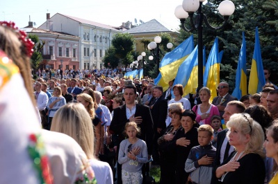
[[[218,181],[218,178],[215,176],[215,171],[220,165],[220,151],[222,144],[224,142],[224,139],[226,138],[228,129],[224,129],[219,132],[218,134],[218,140],[217,140],[217,146],[216,146],[216,155],[213,160],[213,176],[211,177],[211,184],[218,184],[220,181]]]

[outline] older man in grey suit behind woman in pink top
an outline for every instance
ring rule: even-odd
[[[218,85],[218,96],[213,98],[212,104],[218,107],[221,119],[223,119],[224,109],[228,102],[238,100],[229,94],[229,84],[227,82],[220,82]]]

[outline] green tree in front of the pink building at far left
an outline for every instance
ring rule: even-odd
[[[28,35],[28,38],[30,38],[34,43],[34,47],[33,47],[33,55],[31,56],[31,64],[32,64],[32,68],[34,70],[37,70],[38,67],[40,66],[41,62],[42,62],[42,48],[44,46],[44,42],[40,42],[40,39],[37,35]]]

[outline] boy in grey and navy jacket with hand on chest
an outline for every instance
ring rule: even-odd
[[[193,183],[211,183],[213,159],[216,149],[211,145],[213,127],[201,125],[198,129],[199,146],[193,147],[186,160],[186,172],[190,172]]]

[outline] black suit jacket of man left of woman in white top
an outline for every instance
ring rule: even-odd
[[[156,100],[151,110],[155,131],[157,128],[160,128],[163,131],[166,129],[165,120],[167,118],[167,108],[167,101],[163,98],[163,95],[161,95],[161,97]]]

